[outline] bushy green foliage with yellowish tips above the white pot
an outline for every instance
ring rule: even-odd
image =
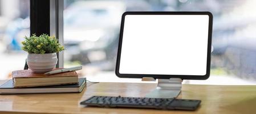
[[[54,36],[48,36],[47,34],[25,36],[22,44],[22,50],[29,52],[29,54],[50,54],[64,50],[64,46],[59,44]]]

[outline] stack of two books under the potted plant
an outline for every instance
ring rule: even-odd
[[[19,70],[13,71],[12,76],[0,86],[0,94],[81,92],[86,85],[86,78],[78,78],[76,71],[44,75]]]

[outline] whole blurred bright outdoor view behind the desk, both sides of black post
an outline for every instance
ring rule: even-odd
[[[253,0],[64,0],[64,67],[82,64],[92,81],[119,79],[115,62],[121,14],[124,11],[210,11],[213,14],[211,75],[188,84],[256,84],[256,1]],[[30,1],[0,0],[0,79],[22,70],[30,35]]]

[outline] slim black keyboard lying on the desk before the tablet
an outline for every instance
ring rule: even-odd
[[[186,99],[160,99],[147,97],[114,97],[114,96],[92,96],[80,104],[92,107],[125,107],[125,108],[153,108],[153,109],[180,109],[195,110],[201,100]]]

